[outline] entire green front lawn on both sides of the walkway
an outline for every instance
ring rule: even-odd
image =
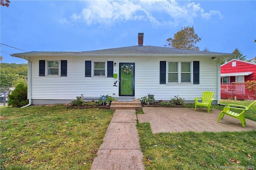
[[[234,101],[221,101],[228,103]],[[0,109],[1,169],[12,170],[89,170],[114,113],[65,105]],[[255,114],[254,105],[246,117],[256,121]],[[149,123],[137,128],[148,170],[256,168],[256,130],[153,134]]]

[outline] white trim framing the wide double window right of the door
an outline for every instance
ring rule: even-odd
[[[178,62],[178,82],[169,82],[169,62]],[[181,63],[190,63],[190,82],[181,82]],[[192,61],[167,61],[166,62],[166,80],[167,84],[192,84],[193,80],[193,62]],[[188,73],[188,72],[184,72]]]

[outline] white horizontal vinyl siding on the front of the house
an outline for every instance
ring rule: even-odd
[[[100,95],[110,95],[118,98],[118,83],[116,86],[113,77],[85,77],[85,61],[114,61],[114,73],[118,73],[118,63],[135,63],[135,98],[140,99],[149,93],[154,95],[156,100],[170,101],[171,97],[179,96],[185,101],[194,101],[195,97],[200,97],[203,91],[214,92],[217,99],[217,62],[209,61],[208,57],[31,57],[32,61],[32,100],[75,100],[81,94],[84,97],[100,98]],[[200,84],[192,83],[168,83],[159,84],[160,81],[160,61],[180,61],[188,62],[193,58],[200,61]],[[67,60],[67,77],[38,76],[39,60],[60,61]],[[215,64],[214,64],[215,63]],[[92,64],[93,65],[93,64]],[[93,67],[93,66],[92,66]],[[192,63],[191,63],[192,67]],[[106,66],[105,66],[106,68]],[[191,70],[193,70],[191,68]],[[192,73],[191,73],[192,74]],[[106,72],[105,72],[106,76]],[[119,75],[118,75],[119,77]],[[113,95],[113,93],[115,95]]]

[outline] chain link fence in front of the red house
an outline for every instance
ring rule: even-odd
[[[221,83],[221,99],[256,100],[256,92],[245,88],[245,83]]]

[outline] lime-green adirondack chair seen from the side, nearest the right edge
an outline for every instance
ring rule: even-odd
[[[250,107],[252,107],[252,105],[254,105],[255,103],[256,103],[256,101],[252,102],[249,106],[228,104],[228,106],[225,106],[223,111],[220,112],[217,122],[219,122],[220,119],[223,119],[224,115],[226,114],[228,116],[239,119],[242,123],[242,127],[244,127],[244,124],[246,123],[246,121],[244,119],[244,112],[247,111]],[[230,109],[238,109],[242,112],[236,113],[234,111],[230,111]]]

